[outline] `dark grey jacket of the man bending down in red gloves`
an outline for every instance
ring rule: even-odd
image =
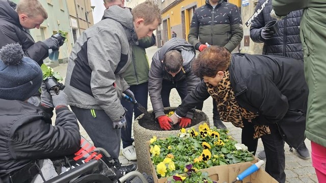
[[[172,77],[164,69],[163,63],[161,62],[166,52],[171,50],[180,51],[183,57],[183,70],[181,70],[175,77]],[[200,82],[200,78],[195,76],[191,70],[191,64],[195,56],[195,47],[181,38],[172,38],[154,54],[149,71],[148,92],[156,118],[158,116],[165,115],[164,106],[160,95],[163,79],[170,80],[172,82],[185,80],[187,82],[188,93],[190,93],[191,90],[193,90]]]

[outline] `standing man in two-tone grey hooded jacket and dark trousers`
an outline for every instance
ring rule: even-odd
[[[146,12],[145,12],[146,10]],[[65,93],[69,105],[94,145],[108,151],[117,162],[125,109],[120,98],[134,96],[122,74],[131,62],[131,44],[152,36],[161,22],[160,10],[152,2],[129,9],[114,5],[104,11],[103,19],[79,37],[69,57]],[[132,164],[122,173],[133,171]]]

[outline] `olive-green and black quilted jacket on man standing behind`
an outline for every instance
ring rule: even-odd
[[[220,1],[213,9],[206,0],[195,10],[188,41],[198,50],[201,44],[224,46],[230,52],[243,37],[242,20],[236,5]],[[199,40],[198,40],[199,38]]]

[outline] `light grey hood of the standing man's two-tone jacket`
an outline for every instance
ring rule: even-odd
[[[128,8],[121,8],[118,5],[113,5],[108,9],[104,10],[102,19],[111,18],[121,23],[124,27],[133,30],[132,15]]]

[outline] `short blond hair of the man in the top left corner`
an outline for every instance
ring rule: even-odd
[[[17,4],[16,12],[29,17],[41,15],[44,19],[47,19],[47,13],[38,0],[20,0]]]

